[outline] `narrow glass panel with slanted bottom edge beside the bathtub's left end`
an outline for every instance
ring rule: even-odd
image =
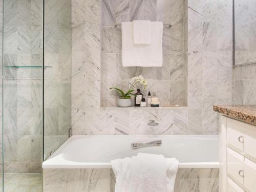
[[[71,0],[45,0],[44,159],[71,128]]]

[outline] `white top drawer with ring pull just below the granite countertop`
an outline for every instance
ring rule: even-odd
[[[227,118],[227,146],[256,162],[256,126]]]

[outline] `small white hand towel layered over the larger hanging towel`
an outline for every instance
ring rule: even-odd
[[[133,42],[134,44],[151,43],[151,21],[134,20],[133,21]]]

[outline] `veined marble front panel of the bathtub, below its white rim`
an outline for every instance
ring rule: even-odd
[[[178,169],[175,192],[217,192],[217,168]],[[112,169],[44,169],[44,191],[114,192],[115,175]]]

